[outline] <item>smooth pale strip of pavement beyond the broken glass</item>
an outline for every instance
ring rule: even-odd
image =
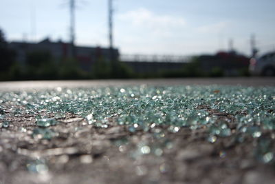
[[[184,78],[184,79],[107,79],[81,81],[5,81],[0,91],[44,88],[93,88],[118,85],[243,85],[275,86],[275,77]]]

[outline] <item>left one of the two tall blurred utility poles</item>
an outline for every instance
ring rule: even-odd
[[[76,3],[75,0],[69,1],[69,14],[70,14],[70,53],[69,56],[74,58],[76,57],[76,51],[74,48],[74,41],[76,39],[75,37],[75,8]]]

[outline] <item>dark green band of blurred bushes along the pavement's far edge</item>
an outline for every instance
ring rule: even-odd
[[[210,71],[203,71],[201,57],[193,57],[190,63],[177,70],[152,71],[148,73],[136,73],[126,63],[120,61],[111,62],[103,56],[92,63],[90,72],[80,66],[76,59],[56,59],[50,51],[36,50],[27,53],[25,63],[15,61],[16,52],[8,48],[3,32],[0,30],[0,81],[8,80],[54,80],[54,79],[130,79],[130,78],[181,78],[224,76],[225,69],[214,67]],[[207,57],[211,59],[232,59],[226,54]],[[206,58],[206,59],[207,59]],[[205,59],[205,57],[204,57]],[[234,58],[233,58],[234,59]],[[236,60],[239,59],[239,60]],[[234,62],[245,61],[236,58]],[[228,62],[233,62],[228,61]],[[241,76],[249,76],[248,68],[236,68]]]

